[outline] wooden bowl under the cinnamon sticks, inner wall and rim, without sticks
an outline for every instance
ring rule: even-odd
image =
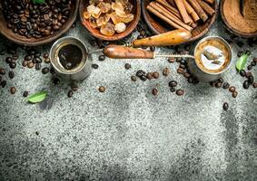
[[[146,24],[148,24],[150,30],[155,34],[166,33],[173,30],[169,24],[166,24],[165,22],[163,22],[163,20],[161,20],[160,18],[156,17],[154,14],[151,14],[147,11],[146,6],[149,5],[150,2],[151,0],[142,0],[143,18]],[[203,24],[197,25],[197,27],[193,29],[192,31],[193,36],[187,43],[193,42],[203,37],[203,35],[209,31],[209,29],[211,28],[211,26],[213,25],[217,17],[217,12],[218,12],[217,0],[215,0],[215,3],[213,4],[213,9],[215,10],[216,13],[212,17],[210,17],[206,22],[204,22]]]

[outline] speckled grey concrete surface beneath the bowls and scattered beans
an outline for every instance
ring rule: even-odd
[[[67,34],[92,49],[79,23]],[[225,37],[222,23],[210,34]],[[256,48],[250,48],[251,59]],[[67,83],[55,87],[50,73],[25,69],[21,62],[7,85],[15,85],[16,94],[0,89],[0,180],[257,180],[257,91],[243,90],[235,56],[223,79],[237,87],[237,99],[208,84],[188,84],[166,59],[98,62],[97,55],[99,69],[68,99]],[[162,72],[166,66],[172,69],[168,77],[130,80],[139,69]],[[252,72],[256,77],[257,70]],[[169,91],[173,79],[185,90],[183,97]],[[154,97],[156,84],[160,94]],[[104,93],[97,90],[101,85]],[[47,107],[27,104],[24,90],[47,90]],[[222,110],[224,101],[228,111]]]

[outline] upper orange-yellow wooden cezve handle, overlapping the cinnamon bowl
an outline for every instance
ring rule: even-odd
[[[133,47],[141,46],[170,46],[179,43],[185,43],[192,37],[192,33],[186,30],[173,30],[167,33],[161,33],[155,36],[147,37],[141,40],[133,41]]]

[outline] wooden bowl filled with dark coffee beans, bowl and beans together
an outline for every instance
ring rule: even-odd
[[[14,43],[51,43],[74,24],[79,0],[0,0],[0,33]]]

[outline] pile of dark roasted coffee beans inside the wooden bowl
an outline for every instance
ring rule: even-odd
[[[3,0],[6,26],[26,38],[42,38],[59,31],[71,13],[72,0]]]

